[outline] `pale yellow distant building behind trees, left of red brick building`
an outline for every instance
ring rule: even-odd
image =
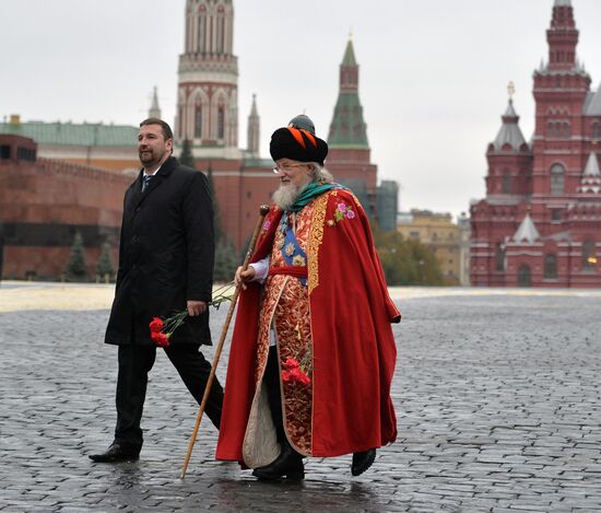
[[[460,283],[463,267],[460,229],[452,222],[450,213],[429,210],[403,212],[399,215],[397,231],[405,238],[420,241],[436,255],[447,283]]]

